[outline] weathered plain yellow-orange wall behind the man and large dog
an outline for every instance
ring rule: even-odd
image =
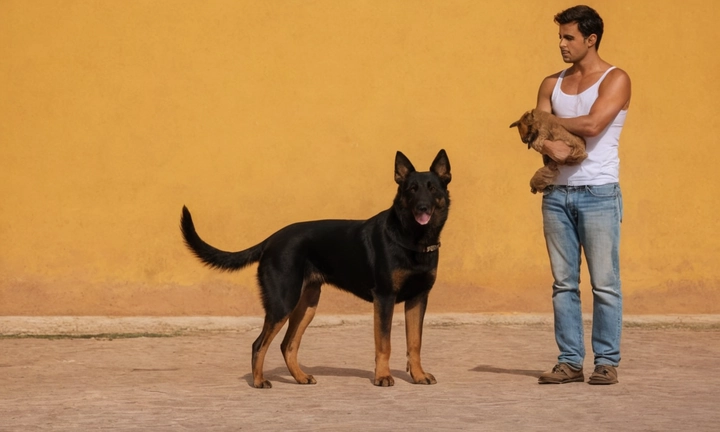
[[[590,1],[633,80],[630,313],[720,312],[720,6]],[[508,128],[565,65],[549,0],[0,1],[0,314],[259,314],[184,248],[389,207],[402,150],[453,168],[430,312],[550,310],[540,157]],[[589,306],[589,278],[583,296]],[[328,288],[320,311],[370,307]]]

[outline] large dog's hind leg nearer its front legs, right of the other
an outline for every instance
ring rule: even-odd
[[[315,310],[320,300],[320,285],[320,282],[307,282],[305,284],[300,294],[300,301],[298,301],[295,310],[290,315],[285,338],[280,344],[285,364],[287,364],[288,370],[299,384],[315,384],[317,382],[312,375],[307,375],[300,369],[297,353],[300,349],[303,333],[305,333],[305,329],[315,317]]]

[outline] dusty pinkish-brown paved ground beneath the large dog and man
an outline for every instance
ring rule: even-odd
[[[423,345],[438,384],[409,382],[398,321],[396,384],[378,388],[370,318],[318,316],[299,356],[317,385],[294,383],[276,340],[273,388],[257,390],[259,324],[0,317],[0,431],[715,431],[720,422],[717,316],[628,317],[620,384],[608,387],[536,384],[556,356],[548,316],[442,315],[428,317]],[[17,334],[26,336],[8,336]]]

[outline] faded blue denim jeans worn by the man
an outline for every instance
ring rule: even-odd
[[[543,231],[553,279],[558,361],[582,367],[585,359],[580,305],[581,251],[593,293],[595,365],[618,366],[622,333],[620,291],[620,185],[550,186],[543,191]]]

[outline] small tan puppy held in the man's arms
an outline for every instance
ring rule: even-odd
[[[545,140],[564,141],[570,147],[570,155],[561,165],[576,165],[587,158],[585,140],[560,126],[557,118],[548,112],[538,109],[530,110],[510,127],[517,127],[520,132],[520,140],[528,145],[528,149],[533,148],[540,154],[542,154]],[[544,154],[543,164],[543,167],[538,169],[530,179],[532,193],[545,190],[546,187],[553,184],[559,173],[559,164]]]

